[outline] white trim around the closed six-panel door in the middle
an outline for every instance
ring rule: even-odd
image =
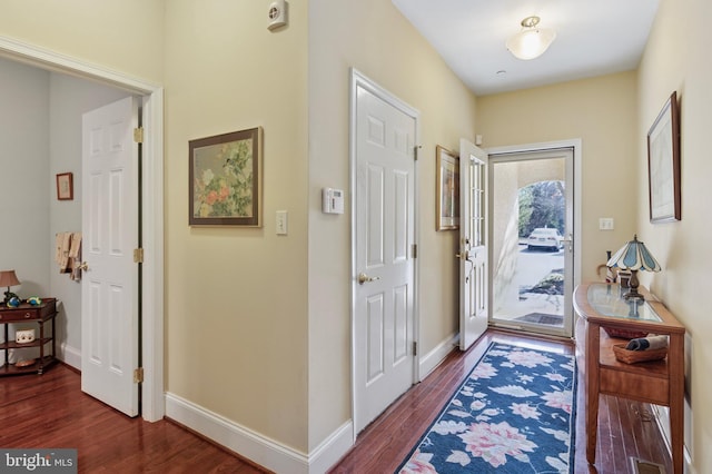
[[[421,141],[421,122],[419,122],[419,117],[421,113],[414,109],[413,107],[408,106],[407,103],[405,103],[404,101],[402,101],[400,99],[398,99],[397,97],[395,97],[394,95],[392,95],[390,92],[388,92],[387,90],[385,90],[384,88],[382,88],[380,86],[378,86],[376,82],[374,82],[373,80],[370,80],[369,78],[367,78],[366,76],[364,76],[362,72],[359,72],[358,70],[356,70],[355,68],[352,68],[350,70],[350,90],[349,90],[349,105],[350,105],[350,111],[349,111],[349,145],[348,145],[348,155],[349,155],[349,175],[350,175],[350,182],[349,182],[349,187],[350,187],[350,192],[349,192],[349,198],[350,198],[350,227],[352,227],[352,235],[350,235],[350,249],[352,249],[352,258],[350,258],[350,275],[356,275],[356,198],[354,196],[355,189],[356,189],[356,102],[357,102],[357,90],[358,88],[363,88],[368,90],[370,93],[373,93],[374,96],[378,97],[379,99],[384,100],[385,102],[389,103],[390,106],[393,106],[394,108],[398,109],[399,111],[402,111],[403,113],[412,117],[415,120],[415,144],[417,147],[417,144],[419,144]],[[415,241],[414,244],[417,245],[417,243],[419,241],[418,238],[418,215],[419,215],[419,209],[418,209],[418,160],[415,160],[415,165],[414,165],[414,181],[415,181],[415,189],[414,189],[414,194],[415,194],[415,198],[414,198],[414,214],[415,214]],[[419,314],[418,314],[418,259],[415,258],[414,265],[413,265],[413,292],[414,292],[414,297],[413,297],[413,320],[414,320],[414,328],[413,328],[413,339],[416,342],[416,345],[419,346],[419,326],[421,326],[421,318],[419,318]],[[356,419],[356,411],[357,411],[357,404],[356,404],[356,322],[355,322],[355,316],[356,314],[356,283],[354,282],[352,284],[352,296],[350,296],[350,319],[352,319],[352,429],[353,429],[353,442],[356,442],[356,436],[357,436],[357,427],[356,427],[356,423],[353,423]],[[413,371],[413,383],[417,383],[419,382],[419,361],[421,361],[421,354],[418,350],[418,354],[415,356],[414,359],[414,371]]]

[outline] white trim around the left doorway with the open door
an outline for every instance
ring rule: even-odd
[[[41,69],[98,80],[144,96],[144,277],[142,277],[142,418],[161,419],[164,399],[164,89],[100,66],[0,37],[0,56]]]

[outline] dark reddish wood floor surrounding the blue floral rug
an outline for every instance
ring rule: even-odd
[[[393,473],[428,428],[492,340],[565,354],[565,342],[488,332],[466,353],[454,350],[424,382],[396,401],[332,468],[343,473]],[[629,457],[661,463],[670,456],[644,404],[602,396],[597,471],[585,462],[583,385],[580,382],[575,473],[629,473]],[[42,376],[0,378],[0,446],[73,447],[80,473],[259,473],[234,453],[169,421],[128,418],[80,391],[80,376],[57,365]]]

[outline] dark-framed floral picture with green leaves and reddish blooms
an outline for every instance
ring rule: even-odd
[[[189,141],[191,226],[261,225],[261,127]]]

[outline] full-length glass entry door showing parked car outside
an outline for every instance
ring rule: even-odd
[[[490,323],[571,336],[573,149],[490,155]]]

